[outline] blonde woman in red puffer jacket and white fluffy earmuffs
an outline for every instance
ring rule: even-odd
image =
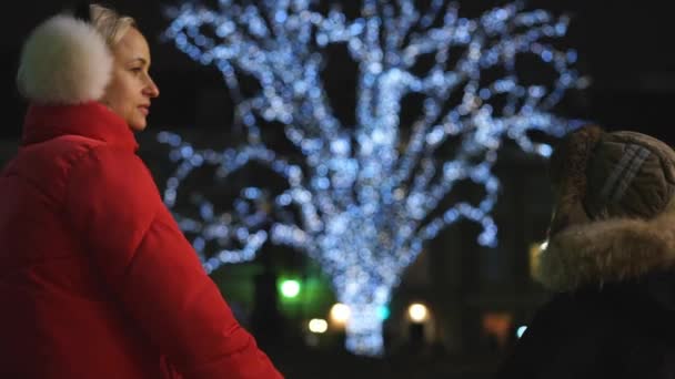
[[[133,132],[159,90],[99,6],[27,40],[21,146],[0,176],[1,378],[281,378],[163,205]]]

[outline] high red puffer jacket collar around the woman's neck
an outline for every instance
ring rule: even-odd
[[[62,135],[80,135],[134,152],[139,147],[127,122],[101,103],[29,106],[21,145]]]

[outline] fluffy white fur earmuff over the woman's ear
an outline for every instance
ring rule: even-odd
[[[79,104],[101,99],[113,58],[103,37],[89,23],[54,16],[26,41],[17,84],[39,104]]]

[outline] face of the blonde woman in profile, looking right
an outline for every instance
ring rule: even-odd
[[[101,103],[124,119],[132,131],[145,129],[150,113],[150,100],[159,96],[148,70],[150,49],[141,32],[129,28],[124,37],[112,49],[114,64],[112,78]]]

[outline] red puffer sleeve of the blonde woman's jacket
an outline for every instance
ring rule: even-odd
[[[92,150],[69,175],[66,214],[107,284],[185,378],[281,378],[235,320],[131,152]]]

